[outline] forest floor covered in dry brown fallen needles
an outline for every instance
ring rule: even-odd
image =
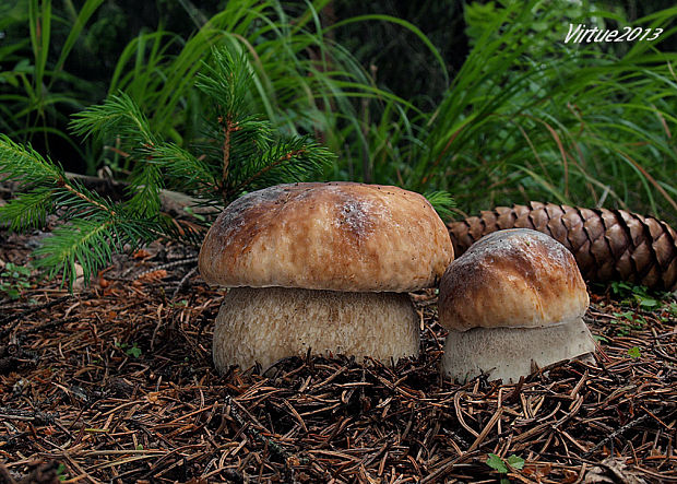
[[[44,236],[0,229],[0,260],[24,264]],[[594,361],[516,385],[440,376],[432,292],[413,295],[418,359],[219,375],[223,292],[195,255],[154,244],[74,294],[32,276],[0,300],[0,482],[677,482],[674,299],[597,291]]]

